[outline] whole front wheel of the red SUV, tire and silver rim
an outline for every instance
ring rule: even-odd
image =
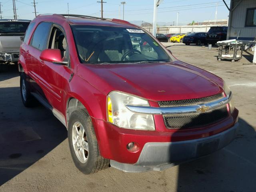
[[[109,167],[110,160],[100,155],[94,127],[84,109],[70,116],[68,144],[74,164],[82,173],[92,174]]]

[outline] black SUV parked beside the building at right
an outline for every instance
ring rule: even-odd
[[[213,26],[206,34],[206,42],[208,44],[216,44],[218,41],[227,39],[227,26]]]

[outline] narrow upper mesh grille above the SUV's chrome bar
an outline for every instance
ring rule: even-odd
[[[204,104],[208,102],[212,102],[218,100],[223,97],[222,93],[196,98],[196,99],[184,99],[184,100],[173,100],[173,101],[159,101],[158,104],[160,107],[173,107],[173,106],[189,106],[189,105],[197,105],[197,104]]]

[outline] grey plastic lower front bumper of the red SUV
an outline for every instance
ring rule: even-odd
[[[135,164],[110,160],[110,165],[124,172],[161,171],[220,150],[236,138],[237,132],[238,123],[224,132],[206,138],[180,142],[148,142]]]

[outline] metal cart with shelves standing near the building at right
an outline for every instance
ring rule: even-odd
[[[235,40],[226,40],[217,42],[218,61],[222,59],[231,60],[231,62],[240,61],[242,59],[243,48],[246,44]]]

